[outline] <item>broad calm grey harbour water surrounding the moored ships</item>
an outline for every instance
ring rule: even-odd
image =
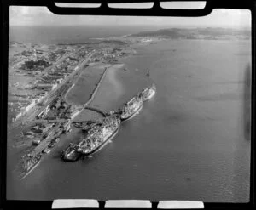
[[[250,44],[175,40],[132,46],[137,55],[123,60],[128,71],[109,71],[91,105],[119,107],[151,82],[148,70],[154,98],[93,157],[61,161],[61,150],[79,139],[74,130],[26,179],[16,182],[8,171],[8,199],[248,201],[250,101],[244,80]]]

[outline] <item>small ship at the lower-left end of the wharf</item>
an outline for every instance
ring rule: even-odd
[[[38,166],[38,164],[41,162],[42,154],[38,154],[36,156],[32,156],[28,154],[24,157],[23,162],[23,176],[21,176],[21,179],[24,179],[29,173],[32,172],[32,170]]]

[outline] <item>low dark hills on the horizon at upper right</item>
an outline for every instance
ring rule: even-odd
[[[137,34],[132,34],[129,37],[162,37],[162,38],[222,38],[222,37],[242,37],[249,38],[251,36],[250,30],[236,30],[227,28],[170,28],[161,29],[158,31],[143,31]]]

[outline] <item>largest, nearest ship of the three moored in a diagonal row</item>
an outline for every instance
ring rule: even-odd
[[[119,131],[120,116],[104,117],[96,122],[88,132],[88,136],[78,144],[77,151],[83,156],[90,156],[101,150]]]

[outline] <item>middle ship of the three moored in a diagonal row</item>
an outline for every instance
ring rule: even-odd
[[[122,121],[131,119],[143,108],[143,99],[139,95],[134,96],[121,108],[120,118]]]

